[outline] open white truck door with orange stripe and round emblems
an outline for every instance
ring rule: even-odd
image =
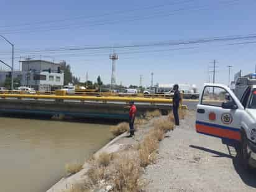
[[[244,107],[227,86],[205,85],[196,110],[196,132],[219,137],[222,141],[240,140]]]

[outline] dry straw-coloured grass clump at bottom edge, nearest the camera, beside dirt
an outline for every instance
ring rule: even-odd
[[[120,156],[116,162],[116,175],[114,178],[114,191],[140,191],[140,167],[134,155]]]

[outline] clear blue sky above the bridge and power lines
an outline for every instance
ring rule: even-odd
[[[1,1],[0,34],[15,44],[15,66],[19,57],[55,62],[66,60],[74,75],[104,83],[111,80],[111,50],[21,53],[61,47],[124,45],[165,40],[191,40],[227,35],[256,34],[256,2],[253,0],[159,0],[159,1]],[[255,39],[254,39],[255,40]],[[242,40],[248,42],[253,40]],[[256,41],[256,40],[255,40]],[[217,60],[217,83],[228,81],[227,65],[234,72],[253,72],[256,43],[228,45],[219,42],[162,47],[116,48],[117,83],[191,83],[208,81],[208,66]],[[0,52],[11,47],[0,39]],[[50,56],[50,57],[48,57]],[[11,63],[10,54],[0,60]],[[2,66],[3,67],[3,66]],[[212,77],[211,77],[212,78]]]

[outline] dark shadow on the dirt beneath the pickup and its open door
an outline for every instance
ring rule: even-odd
[[[256,178],[256,169],[254,169],[252,171],[244,170],[244,168],[240,165],[238,155],[226,154],[226,153],[218,152],[216,150],[207,149],[205,147],[199,147],[196,145],[190,145],[190,147],[193,149],[203,150],[208,153],[213,153],[214,154],[213,157],[231,158],[235,171],[240,176],[241,180],[245,183],[245,185],[256,188],[256,179],[255,179]]]

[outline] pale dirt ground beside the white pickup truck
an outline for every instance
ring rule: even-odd
[[[256,171],[247,173],[234,148],[197,134],[195,112],[160,143],[158,159],[145,170],[145,191],[256,191]]]

